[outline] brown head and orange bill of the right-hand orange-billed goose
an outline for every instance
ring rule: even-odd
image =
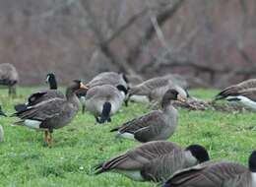
[[[185,102],[186,98],[181,96],[176,90],[170,89],[163,94],[161,99],[161,107],[164,108],[166,105],[169,105],[171,100],[178,100],[180,102]]]

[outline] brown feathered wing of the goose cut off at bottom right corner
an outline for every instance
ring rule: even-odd
[[[233,182],[237,182],[237,180],[239,180],[239,175],[246,171],[246,167],[237,163],[209,161],[188,169],[177,171],[165,183],[164,187],[236,186]]]

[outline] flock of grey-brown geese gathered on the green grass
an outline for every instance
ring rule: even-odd
[[[117,137],[143,143],[127,153],[96,165],[96,174],[117,172],[136,181],[160,182],[164,187],[256,187],[256,152],[248,159],[248,167],[231,161],[210,160],[201,145],[182,148],[167,142],[178,125],[178,111],[172,101],[186,102],[188,92],[169,76],[154,78],[132,86],[125,75],[104,72],[84,85],[75,80],[63,94],[58,90],[54,74],[48,74],[49,90],[31,94],[25,103],[15,105],[11,115],[19,118],[13,125],[44,132],[44,142],[52,146],[53,130],[72,121],[79,111],[89,111],[96,124],[111,122],[123,103],[129,100],[160,102],[152,110],[113,128]],[[256,80],[230,86],[215,98],[238,101],[256,109]],[[5,113],[0,108],[0,115]],[[0,131],[3,131],[1,128]],[[0,139],[2,140],[2,139]]]

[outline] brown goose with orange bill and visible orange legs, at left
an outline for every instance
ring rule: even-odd
[[[81,81],[76,80],[67,88],[66,98],[53,97],[16,112],[12,116],[22,120],[15,125],[44,130],[44,140],[47,144],[51,144],[53,129],[68,125],[77,114],[79,99],[75,92],[81,88],[87,89]]]

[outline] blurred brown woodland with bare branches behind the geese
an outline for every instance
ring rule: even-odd
[[[222,88],[256,74],[256,0],[0,0],[0,63],[21,85],[180,73]]]

